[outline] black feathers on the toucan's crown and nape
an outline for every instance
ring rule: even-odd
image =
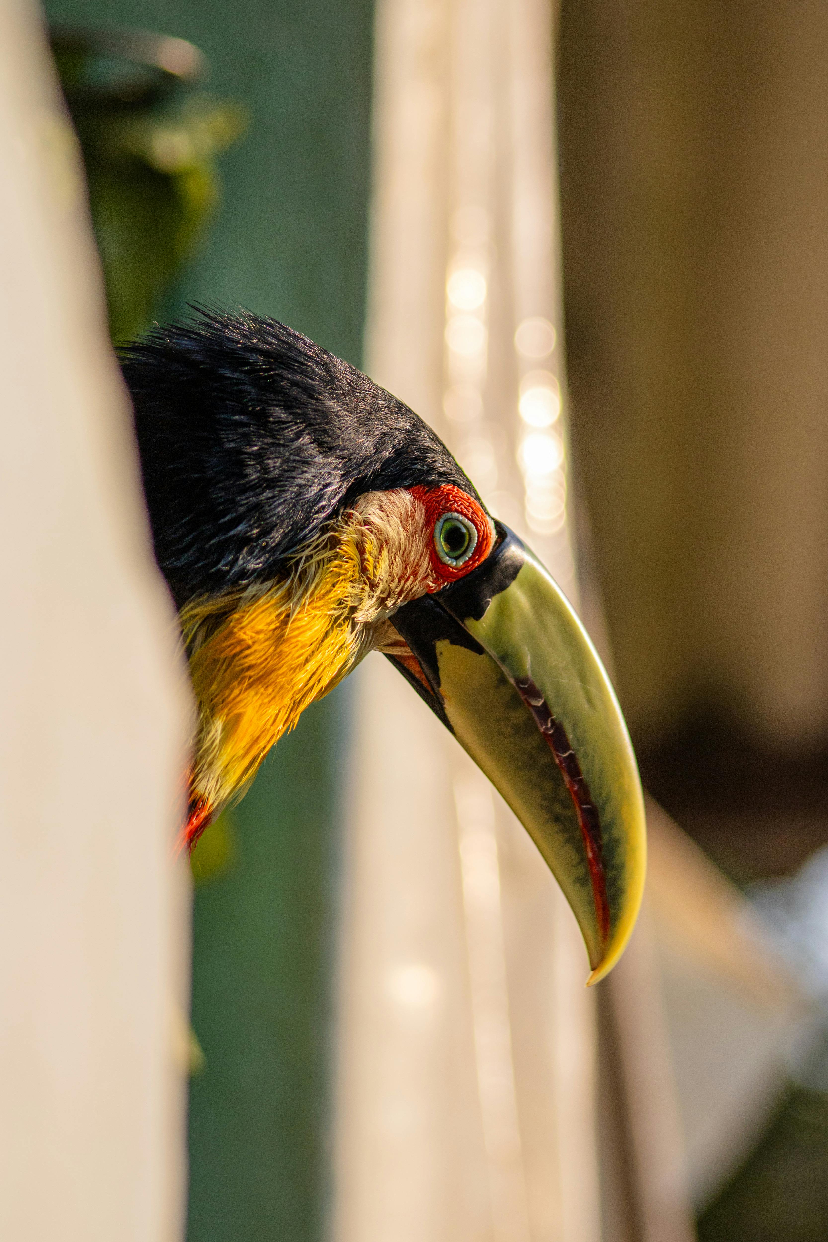
[[[274,319],[197,308],[122,351],[155,555],[179,604],[274,578],[369,491],[477,493],[417,415]]]

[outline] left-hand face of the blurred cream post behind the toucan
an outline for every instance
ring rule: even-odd
[[[380,0],[367,368],[428,421],[443,361],[449,12]],[[354,674],[336,1049],[338,1242],[489,1238],[452,764],[398,673]]]

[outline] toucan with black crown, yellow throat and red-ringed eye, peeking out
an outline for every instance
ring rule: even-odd
[[[590,982],[606,975],[641,903],[643,800],[610,679],[550,574],[408,406],[284,324],[196,307],[120,361],[197,705],[185,842],[380,651],[511,806]]]

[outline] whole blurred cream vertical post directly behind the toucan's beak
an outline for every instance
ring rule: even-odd
[[[560,345],[549,356],[551,10],[380,0],[376,30],[369,369],[493,512],[529,524],[574,594]],[[519,419],[530,373],[536,406],[557,402],[549,435]],[[546,458],[542,443],[526,456],[529,431]],[[398,674],[370,657],[356,677],[334,1235],[600,1242],[596,1013],[575,920]]]

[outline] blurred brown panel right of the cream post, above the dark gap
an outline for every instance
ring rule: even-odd
[[[624,708],[828,727],[828,7],[562,5],[567,327]]]

